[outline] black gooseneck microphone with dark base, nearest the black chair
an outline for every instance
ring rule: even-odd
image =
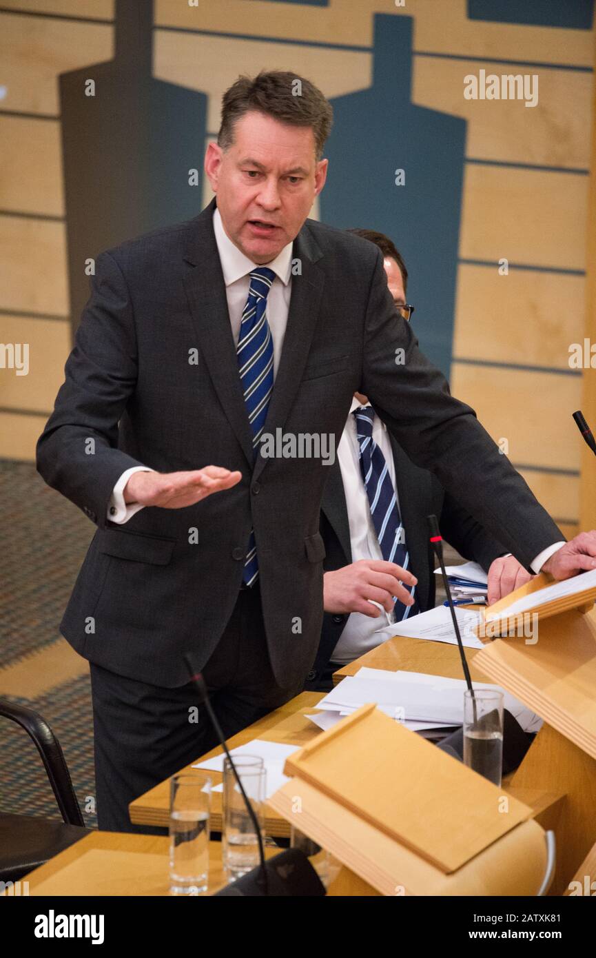
[[[289,848],[287,851],[280,853],[280,855],[275,855],[273,858],[269,858],[269,860],[265,862],[263,835],[259,827],[259,822],[257,821],[255,810],[250,804],[248,796],[244,791],[244,787],[242,786],[241,778],[238,774],[236,765],[234,764],[234,760],[230,755],[227,742],[225,741],[223,732],[221,731],[221,727],[218,722],[218,717],[214,712],[209,695],[207,693],[205,679],[201,673],[194,673],[193,666],[188,655],[184,656],[184,661],[186,662],[187,668],[189,670],[191,681],[195,683],[195,688],[198,693],[198,700],[207,709],[207,714],[209,715],[216,735],[218,736],[219,744],[223,748],[223,751],[225,752],[230,763],[234,773],[234,778],[236,779],[236,783],[241,790],[244,805],[246,806],[246,810],[252,822],[255,834],[257,835],[257,841],[259,843],[259,865],[257,865],[256,868],[248,872],[246,875],[242,875],[241,878],[237,878],[236,881],[232,881],[229,885],[221,888],[214,897],[266,897],[272,895],[324,896],[326,891],[321,879],[318,877],[316,871],[310,864],[308,856],[299,849]]]

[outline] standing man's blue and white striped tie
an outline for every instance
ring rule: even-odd
[[[246,412],[253,434],[255,458],[273,391],[273,340],[267,323],[266,308],[267,293],[274,279],[275,273],[267,266],[259,266],[251,272],[248,299],[242,311],[238,337],[238,365]],[[251,529],[242,580],[247,585],[253,585],[258,575],[257,543],[254,529]]]

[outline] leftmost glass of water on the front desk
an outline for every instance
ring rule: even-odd
[[[170,780],[170,892],[200,895],[209,877],[211,777],[200,769]]]

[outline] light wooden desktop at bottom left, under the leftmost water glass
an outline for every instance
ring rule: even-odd
[[[170,839],[164,835],[93,832],[21,878],[29,894],[51,896],[170,895]],[[279,849],[265,848],[270,857]],[[209,887],[227,884],[221,842],[209,842]]]

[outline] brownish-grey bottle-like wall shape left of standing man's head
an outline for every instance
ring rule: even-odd
[[[202,206],[207,97],[151,76],[152,7],[116,0],[114,59],[59,78],[73,332],[89,298],[87,258]]]

